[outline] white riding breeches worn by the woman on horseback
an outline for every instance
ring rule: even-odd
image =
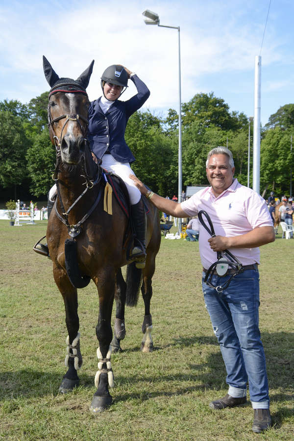
[[[129,178],[129,174],[133,174],[135,176],[135,173],[132,171],[130,165],[128,162],[118,162],[114,159],[112,155],[104,155],[102,157],[102,164],[101,167],[103,169],[107,170],[107,172],[113,172],[120,176],[120,178],[123,179],[123,182],[126,185],[128,194],[130,196],[130,203],[131,205],[137,204],[141,198],[141,193],[135,186],[134,181]],[[53,185],[53,187],[49,190],[49,199],[54,200],[54,195],[56,193],[56,184]]]

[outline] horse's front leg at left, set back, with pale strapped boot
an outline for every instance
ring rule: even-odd
[[[62,268],[54,267],[53,275],[56,285],[62,294],[66,326],[68,330],[67,354],[65,357],[65,366],[68,368],[59,387],[59,392],[66,393],[72,391],[79,384],[77,370],[82,366],[83,359],[80,352],[79,337],[79,319],[77,315],[77,290],[73,287],[66,272]]]

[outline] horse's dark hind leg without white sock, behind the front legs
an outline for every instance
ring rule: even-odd
[[[121,349],[121,340],[125,337],[125,324],[124,324],[124,306],[125,306],[125,290],[126,283],[123,280],[122,270],[119,269],[116,275],[115,286],[115,302],[116,302],[116,316],[114,321],[114,336],[112,339],[111,351],[118,352]]]

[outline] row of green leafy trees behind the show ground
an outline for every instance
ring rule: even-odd
[[[0,186],[13,189],[14,198],[22,186],[31,196],[46,197],[53,182],[55,148],[49,140],[48,94],[28,104],[0,101]],[[187,185],[206,185],[205,160],[208,151],[228,147],[235,161],[235,177],[247,185],[248,124],[243,112],[230,111],[213,92],[196,94],[182,103],[182,176]],[[251,130],[250,186],[252,187]],[[286,104],[270,116],[262,128],[260,191],[290,194],[293,172],[291,135],[294,133],[294,104]],[[177,194],[178,114],[169,109],[165,118],[149,111],[136,112],[127,124],[125,140],[136,161],[136,175],[162,196]]]

